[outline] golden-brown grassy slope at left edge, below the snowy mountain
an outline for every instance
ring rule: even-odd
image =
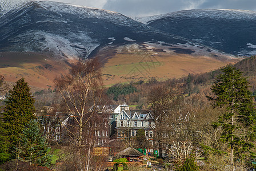
[[[0,74],[7,82],[16,82],[22,77],[32,87],[53,87],[55,76],[69,71],[68,63],[53,60],[46,55],[26,52],[1,52]]]

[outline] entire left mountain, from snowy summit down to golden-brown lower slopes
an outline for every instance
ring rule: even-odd
[[[49,88],[69,63],[99,57],[106,86],[180,78],[240,60],[113,11],[51,1],[1,9],[0,74]]]

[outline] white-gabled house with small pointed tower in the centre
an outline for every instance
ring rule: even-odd
[[[122,136],[134,137],[139,129],[144,129],[145,136],[153,144],[155,124],[153,117],[146,110],[130,110],[129,105],[124,102],[122,105],[93,105],[91,109],[97,108],[98,112],[106,112],[109,115],[110,136],[116,136],[118,139]]]

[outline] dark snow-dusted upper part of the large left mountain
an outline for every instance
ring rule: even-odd
[[[90,7],[24,1],[1,11],[0,51],[54,52],[87,58],[95,48],[110,44],[189,43],[125,15]]]

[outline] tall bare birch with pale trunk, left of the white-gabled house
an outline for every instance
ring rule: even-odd
[[[89,163],[83,161],[83,156],[91,154],[91,147],[95,142],[86,141],[85,137],[87,132],[93,134],[87,125],[96,112],[94,104],[101,100],[102,80],[98,60],[78,62],[71,67],[70,74],[55,79],[55,86],[73,119],[73,123],[63,124],[62,127],[66,128],[70,143],[77,149],[78,169],[89,170]],[[91,106],[94,107],[90,108]],[[83,149],[87,149],[87,154],[83,154]],[[87,160],[90,160],[88,155]]]

